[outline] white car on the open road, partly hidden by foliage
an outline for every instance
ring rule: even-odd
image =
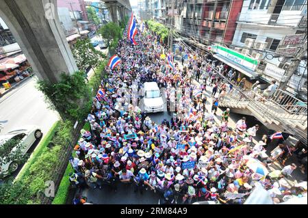
[[[5,133],[4,135],[0,135],[0,147],[5,143],[5,141],[15,139],[20,141],[20,144],[23,145],[21,152],[26,154],[36,139],[39,139],[40,137],[42,137],[42,131],[38,126],[23,126],[21,128],[16,128],[14,131]],[[12,152],[14,150],[16,150],[16,147],[12,148]],[[1,158],[3,157],[0,156],[0,159]],[[10,161],[9,163],[0,165],[0,178],[8,176],[10,172],[16,171],[17,168],[18,163],[16,161]]]

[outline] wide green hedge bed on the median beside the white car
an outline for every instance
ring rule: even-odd
[[[70,122],[56,122],[42,139],[32,158],[25,165],[21,176],[14,182],[8,181],[0,186],[0,204],[41,204],[45,182],[53,180],[60,169],[60,156],[66,148],[66,139],[71,140]],[[55,135],[55,133],[58,133]],[[49,141],[55,142],[48,148]]]

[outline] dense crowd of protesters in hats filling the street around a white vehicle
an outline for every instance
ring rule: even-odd
[[[161,204],[243,204],[257,186],[279,203],[286,195],[306,191],[307,187],[285,183],[296,165],[268,173],[262,168],[277,160],[283,144],[268,159],[260,159],[269,139],[253,142],[258,125],[247,126],[243,117],[231,128],[230,109],[215,121],[218,101],[232,90],[219,74],[234,79],[232,70],[206,57],[189,57],[183,68],[178,64],[168,68],[160,58],[168,51],[155,36],[138,33],[136,42],[120,40],[116,53],[121,63],[113,70],[105,69],[101,94],[87,118],[90,131],[81,130],[76,157],[70,158],[73,185],[102,189],[107,184],[116,191],[118,182],[123,182],[135,192],[155,192]],[[146,81],[165,88],[168,109],[175,111],[170,120],[157,124],[142,111],[138,90]],[[213,87],[211,96],[207,96],[206,82]],[[213,99],[211,111],[205,107],[207,98]],[[80,195],[75,200],[76,204],[86,202]]]

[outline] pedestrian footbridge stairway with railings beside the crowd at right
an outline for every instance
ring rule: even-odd
[[[265,98],[260,92],[233,87],[221,97],[219,106],[229,107],[233,113],[253,115],[266,127],[290,133],[307,144],[307,103],[283,90]]]

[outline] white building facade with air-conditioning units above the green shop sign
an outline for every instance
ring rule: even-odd
[[[233,36],[233,49],[256,59],[261,79],[280,83],[298,50],[281,49],[285,36],[307,40],[306,0],[245,0]],[[307,93],[307,61],[300,62],[287,83],[292,94]],[[305,91],[306,89],[306,91]]]

